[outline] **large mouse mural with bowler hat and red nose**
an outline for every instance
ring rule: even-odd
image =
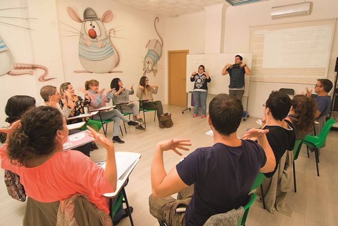
[[[114,73],[119,64],[119,53],[110,37],[114,29],[106,30],[103,23],[112,21],[113,12],[107,10],[101,19],[96,12],[88,7],[83,11],[83,20],[72,7],[67,7],[67,13],[71,19],[81,23],[79,31],[79,59],[82,67],[86,70],[76,70],[75,73]]]

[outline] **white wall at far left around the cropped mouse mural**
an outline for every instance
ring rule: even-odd
[[[1,11],[1,16],[37,18],[29,21],[19,19],[1,19],[2,22],[31,28],[34,31],[15,26],[0,25],[0,36],[14,56],[14,62],[40,64],[49,69],[47,77],[57,79],[39,82],[38,78],[44,72],[34,70],[34,75],[0,77],[1,89],[0,126],[5,126],[4,108],[9,97],[14,95],[29,95],[37,102],[41,101],[40,87],[45,84],[59,84],[63,81],[61,52],[58,42],[55,1],[53,0],[15,0],[2,1],[1,8],[28,7],[27,9],[11,9]],[[3,66],[3,65],[2,65]],[[1,67],[1,65],[0,65]]]

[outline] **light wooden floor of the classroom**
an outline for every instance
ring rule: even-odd
[[[192,112],[182,114],[183,107],[164,106],[164,111],[171,112],[174,125],[171,128],[160,129],[158,122],[153,122],[153,112],[146,112],[147,130],[135,131],[134,127],[127,126],[127,135],[121,138],[125,144],[116,144],[116,151],[139,152],[142,158],[132,172],[126,193],[129,204],[134,207],[132,217],[136,226],[158,225],[149,214],[148,197],[151,193],[150,164],[155,144],[170,138],[191,139],[191,151],[202,146],[213,145],[212,136],[204,134],[210,130],[206,119],[192,118]],[[247,118],[242,121],[238,136],[242,136],[247,128],[257,127],[256,118]],[[122,125],[123,126],[123,125]],[[102,130],[101,130],[102,131]],[[112,123],[108,125],[107,137],[112,137]],[[306,148],[301,149],[296,160],[297,193],[289,192],[287,201],[292,207],[292,217],[276,212],[271,214],[262,207],[258,199],[252,205],[247,219],[251,225],[338,225],[338,132],[330,131],[327,146],[321,150],[320,177],[316,175],[314,155],[306,156]],[[187,155],[188,153],[186,153]],[[93,161],[105,159],[105,151],[101,148],[91,152]],[[166,152],[164,162],[166,170],[170,170],[182,157],[173,152]],[[3,170],[0,171],[3,178]],[[0,225],[22,225],[25,203],[16,201],[8,196],[5,184],[0,182]],[[120,226],[130,225],[129,219],[123,219]]]

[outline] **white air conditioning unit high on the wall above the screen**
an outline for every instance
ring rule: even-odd
[[[311,5],[312,2],[301,2],[291,5],[271,7],[271,18],[280,19],[285,17],[310,15]]]

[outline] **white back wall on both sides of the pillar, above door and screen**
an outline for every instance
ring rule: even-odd
[[[272,20],[270,16],[271,7],[299,3],[299,0],[270,0],[246,4],[241,6],[229,6],[226,8],[224,30],[224,53],[248,52],[250,26],[261,26],[271,24],[293,23],[301,21],[334,19],[337,17],[337,0],[311,0],[313,11],[310,16],[292,17]],[[227,4],[227,3],[224,3]],[[166,19],[166,51],[189,49],[190,53],[204,53],[204,23],[205,12],[190,14],[178,18]],[[198,28],[198,33],[196,32]],[[193,34],[193,35],[192,35]],[[210,34],[212,35],[212,34]],[[333,81],[334,66],[338,56],[338,28],[335,34],[336,42],[333,45],[329,67],[329,78]],[[225,64],[228,62],[224,62]],[[167,58],[166,58],[167,64]],[[167,68],[167,67],[166,67]],[[313,82],[315,84],[316,81]],[[166,71],[167,83],[167,71]],[[262,115],[262,104],[268,98],[272,90],[290,87],[296,93],[301,92],[306,86],[313,84],[287,84],[287,83],[262,83],[250,82],[250,93],[248,111],[250,116],[260,117]],[[227,89],[227,87],[224,87]],[[167,95],[166,95],[167,99]],[[210,98],[208,98],[210,99]],[[243,98],[243,105],[246,105],[246,98]]]

